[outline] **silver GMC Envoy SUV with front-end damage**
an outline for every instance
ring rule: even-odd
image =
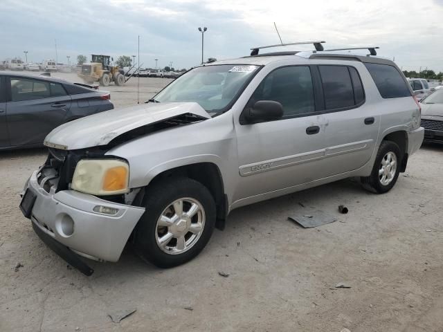
[[[20,208],[72,266],[189,261],[240,206],[361,177],[388,192],[422,144],[419,106],[387,59],[327,51],[205,64],[143,105],[54,129]]]

